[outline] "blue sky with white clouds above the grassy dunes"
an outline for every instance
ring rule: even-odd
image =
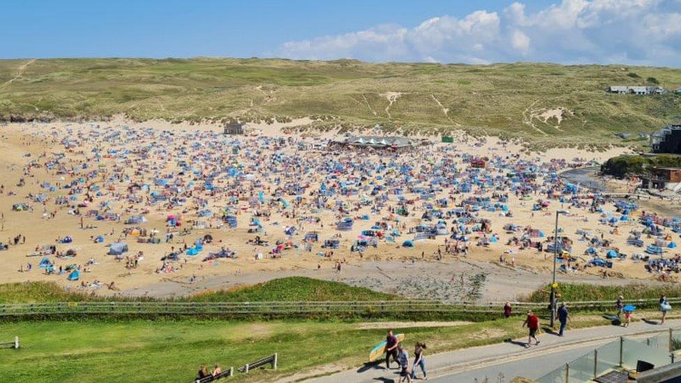
[[[283,57],[681,67],[681,0],[17,0],[0,58]]]

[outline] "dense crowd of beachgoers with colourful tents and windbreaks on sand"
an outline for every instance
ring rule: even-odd
[[[329,138],[106,123],[36,124],[22,134],[54,149],[36,153],[27,145],[33,153],[24,156],[19,181],[6,187],[14,193],[0,195],[15,207],[3,225],[33,216],[33,204],[43,220],[59,220],[50,229],[54,243],[31,234],[36,251],[28,255],[47,257],[52,267],[40,262],[40,269],[71,281],[65,270],[73,264],[112,278],[103,255],[121,260],[128,246],[144,256],[124,262],[126,283],[140,278],[140,268],[188,279],[227,260],[290,255],[310,269],[340,272],[368,257],[431,261],[491,250],[498,254],[491,262],[516,267],[550,262],[555,253],[563,273],[602,268],[606,275],[645,262],[648,273],[666,279],[681,260],[672,236],[681,232],[678,219],[639,212],[634,201],[590,193],[560,176],[588,160],[527,156],[484,139],[331,148]],[[557,209],[569,213],[555,245],[545,231]],[[568,224],[578,228],[564,229]],[[10,238],[8,252],[20,253],[26,241],[24,234]],[[78,262],[79,249],[97,262]],[[51,271],[60,266],[61,273]],[[18,269],[29,267],[21,262]]]

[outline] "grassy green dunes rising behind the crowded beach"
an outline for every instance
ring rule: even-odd
[[[542,63],[491,66],[280,59],[0,61],[0,117],[243,119],[320,117],[316,128],[620,142],[613,133],[679,121],[681,97],[615,96],[613,84],[681,85],[681,70]],[[400,96],[396,93],[401,92]],[[564,108],[558,123],[545,112]]]

